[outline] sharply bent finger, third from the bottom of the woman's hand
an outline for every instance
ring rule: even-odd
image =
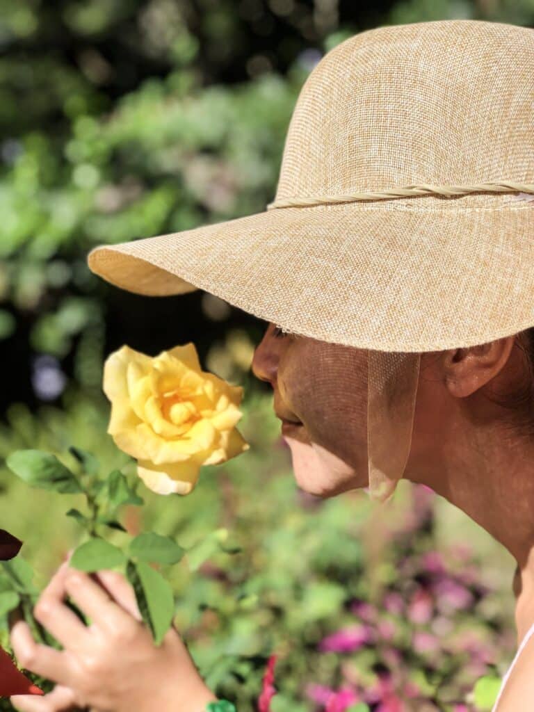
[[[64,647],[80,650],[87,646],[89,632],[78,616],[64,603],[68,565],[61,565],[41,593],[33,614]]]

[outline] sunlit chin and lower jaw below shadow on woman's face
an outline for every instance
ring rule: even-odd
[[[327,499],[337,494],[367,486],[358,484],[355,471],[337,456],[302,436],[284,436],[291,453],[295,481],[305,492]]]

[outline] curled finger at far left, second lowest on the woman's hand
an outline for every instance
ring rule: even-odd
[[[36,643],[26,621],[17,621],[14,624],[10,639],[16,659],[23,668],[68,686],[71,665],[66,654],[48,645]]]

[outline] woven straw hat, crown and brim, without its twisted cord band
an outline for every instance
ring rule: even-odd
[[[414,185],[515,192],[328,203]],[[376,28],[303,86],[270,209],[90,251],[145,295],[195,288],[355,347],[466,347],[534,325],[534,31],[451,20]],[[276,206],[315,199],[317,204]]]

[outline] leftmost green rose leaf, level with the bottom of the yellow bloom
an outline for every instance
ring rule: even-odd
[[[41,450],[16,450],[6,465],[31,487],[63,494],[83,492],[73,473],[57,457]]]

